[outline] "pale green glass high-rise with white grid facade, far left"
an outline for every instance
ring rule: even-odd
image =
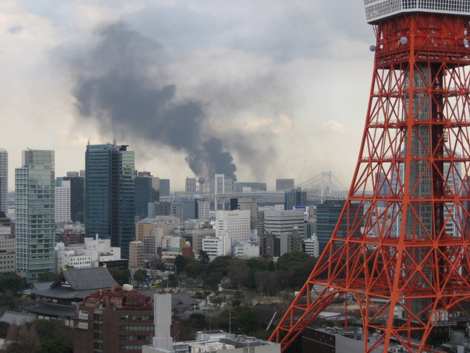
[[[16,270],[28,281],[55,272],[54,151],[26,150],[15,169]]]

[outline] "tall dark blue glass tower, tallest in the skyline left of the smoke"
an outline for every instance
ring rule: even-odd
[[[134,151],[126,145],[88,145],[85,154],[86,233],[110,239],[129,258],[134,241]]]

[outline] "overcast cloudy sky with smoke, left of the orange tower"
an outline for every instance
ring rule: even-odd
[[[222,169],[349,186],[374,42],[361,0],[2,0],[10,189],[26,148],[63,176],[113,138],[173,190]]]

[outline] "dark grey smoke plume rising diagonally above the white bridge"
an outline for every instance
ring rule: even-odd
[[[79,114],[96,120],[103,133],[185,151],[197,176],[223,173],[236,180],[232,155],[222,141],[202,136],[203,103],[179,99],[165,76],[161,46],[123,22],[104,26],[96,35],[94,47],[74,59]]]

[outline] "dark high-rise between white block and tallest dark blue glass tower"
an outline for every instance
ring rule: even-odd
[[[67,172],[67,176],[57,178],[57,186],[62,181],[70,182],[70,220],[85,223],[85,171]]]

